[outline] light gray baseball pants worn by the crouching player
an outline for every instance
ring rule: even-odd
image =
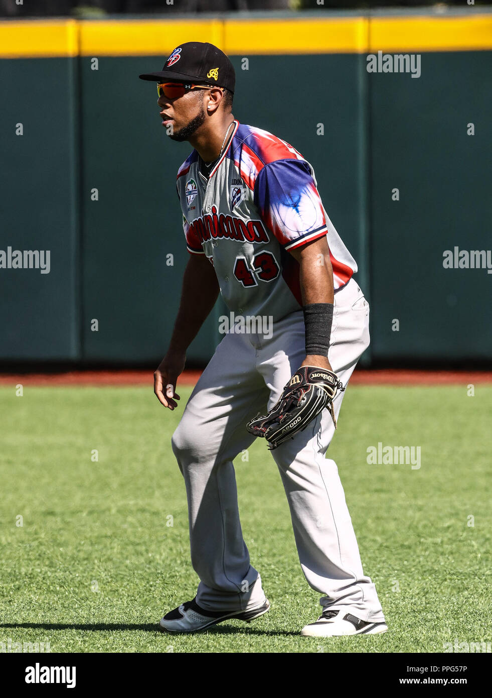
[[[335,294],[328,353],[344,385],[368,345],[369,305],[351,279]],[[172,447],[186,485],[192,565],[200,579],[197,603],[204,609],[245,610],[265,598],[243,540],[232,461],[254,441],[245,424],[267,403],[268,409],[275,404],[304,359],[302,311],[275,322],[270,339],[229,332],[174,432]],[[337,416],[344,394],[334,401]],[[309,585],[323,595],[323,607],[347,609],[362,621],[384,621],[376,588],[362,570],[337,465],[325,458],[334,433],[323,410],[305,431],[272,451],[300,565]]]

